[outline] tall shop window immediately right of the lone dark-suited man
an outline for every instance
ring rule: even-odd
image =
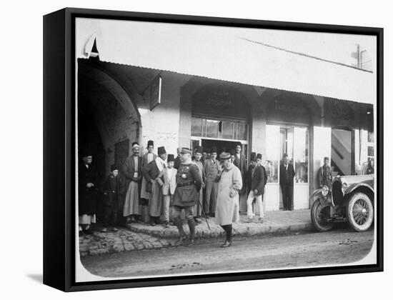
[[[294,128],[294,167],[297,183],[307,183],[309,173],[309,133],[307,128]]]

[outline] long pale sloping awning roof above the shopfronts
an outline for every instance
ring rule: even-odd
[[[226,31],[230,33],[231,31]],[[212,26],[76,19],[76,57],[375,104],[375,73],[220,34]]]

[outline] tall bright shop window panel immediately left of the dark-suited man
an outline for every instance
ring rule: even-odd
[[[279,182],[279,126],[266,126],[266,161],[267,182]]]

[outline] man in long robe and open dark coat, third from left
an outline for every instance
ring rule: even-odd
[[[139,156],[139,144],[134,141],[131,147],[132,155],[126,159],[123,172],[126,176],[126,199],[124,200],[123,216],[127,223],[135,222],[139,216],[139,191],[142,179],[142,158]]]

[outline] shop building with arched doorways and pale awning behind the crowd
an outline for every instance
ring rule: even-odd
[[[282,154],[296,169],[294,209],[309,208],[324,156],[344,175],[374,159],[372,71],[230,31],[142,23],[76,20],[79,145],[94,146],[103,174],[132,141],[175,155],[178,146],[229,151],[240,142],[247,159],[262,153],[272,211],[282,206]]]

